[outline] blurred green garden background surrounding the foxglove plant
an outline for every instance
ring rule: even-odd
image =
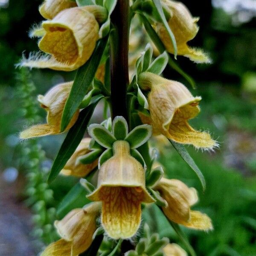
[[[40,3],[0,0],[0,255],[36,255],[43,242],[54,240],[56,205],[77,181],[59,177],[50,186],[45,183],[64,135],[29,142],[18,139],[24,127],[44,122],[36,95],[74,77],[74,73],[51,70],[15,70],[22,54],[37,50],[37,40],[27,34],[32,24],[41,20]],[[175,71],[166,70],[166,74],[186,84],[193,95],[202,96],[201,113],[191,124],[209,130],[221,146],[215,153],[188,147],[206,178],[204,194],[195,174],[170,145],[160,144],[159,161],[170,178],[198,189],[200,202],[194,209],[212,218],[212,232],[183,229],[198,255],[256,256],[256,3],[183,3],[193,16],[200,17],[200,30],[191,45],[209,52],[213,63],[194,64],[178,57],[183,70],[195,79],[196,90]],[[100,110],[96,111],[96,120],[101,118]],[[153,231],[183,246],[160,216],[157,207],[144,212]],[[12,241],[16,244],[2,246]]]

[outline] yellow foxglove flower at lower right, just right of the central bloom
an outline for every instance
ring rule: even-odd
[[[154,189],[160,192],[168,204],[162,209],[169,220],[199,230],[213,229],[212,221],[206,214],[190,210],[198,201],[194,188],[187,187],[180,180],[162,178]]]

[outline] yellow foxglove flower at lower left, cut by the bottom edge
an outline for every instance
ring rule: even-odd
[[[49,244],[41,256],[76,256],[87,250],[93,241],[100,208],[100,203],[91,203],[83,209],[73,209],[61,221],[55,221],[61,239]]]

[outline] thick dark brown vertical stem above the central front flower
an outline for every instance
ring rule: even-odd
[[[129,0],[117,1],[111,15],[113,29],[110,34],[111,114],[112,119],[115,116],[124,116],[127,121],[129,11]]]

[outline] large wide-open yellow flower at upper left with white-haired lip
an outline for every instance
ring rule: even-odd
[[[71,71],[92,55],[99,39],[99,24],[93,14],[79,7],[64,9],[42,23],[45,31],[38,43],[49,55],[32,55],[21,66]]]

